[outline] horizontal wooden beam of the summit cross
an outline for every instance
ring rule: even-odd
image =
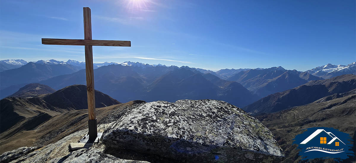
[[[46,45],[131,46],[131,41],[42,38]]]

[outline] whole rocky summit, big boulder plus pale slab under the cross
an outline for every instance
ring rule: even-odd
[[[100,121],[105,122],[98,126],[103,136],[90,148],[68,151],[69,143],[77,142],[88,132],[81,130],[36,150],[19,148],[6,152],[0,159],[12,163],[253,163],[280,162],[284,157],[268,128],[224,101],[142,101],[122,106],[117,105],[121,109],[114,109]]]

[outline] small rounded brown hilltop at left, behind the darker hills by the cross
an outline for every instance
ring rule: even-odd
[[[35,97],[37,95],[53,93],[55,91],[56,90],[54,90],[53,88],[51,88],[47,85],[31,83],[31,84],[27,84],[24,87],[20,88],[17,92],[10,95],[9,97],[31,98],[31,97]]]

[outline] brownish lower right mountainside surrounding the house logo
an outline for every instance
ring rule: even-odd
[[[276,136],[285,153],[282,163],[299,162],[297,145],[293,138],[310,127],[333,127],[351,135],[355,141],[356,95],[349,95],[325,102],[292,107],[288,110],[256,117]],[[355,150],[355,147],[354,147]],[[355,157],[344,162],[355,161]],[[314,159],[314,163],[336,163],[333,159]],[[307,162],[307,161],[303,161]]]

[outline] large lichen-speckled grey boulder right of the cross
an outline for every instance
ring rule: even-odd
[[[279,162],[283,157],[268,128],[224,101],[142,103],[109,126],[102,137],[106,146],[189,162]]]

